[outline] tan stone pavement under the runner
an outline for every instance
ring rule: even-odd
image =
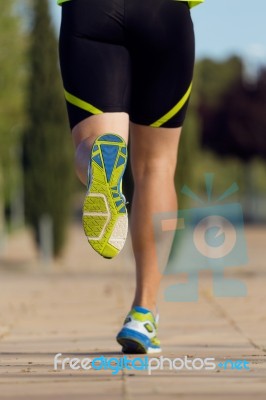
[[[215,298],[212,277],[200,274],[195,303],[169,303],[164,277],[159,309],[162,356],[171,360],[245,359],[249,370],[54,370],[63,357],[122,357],[114,338],[134,290],[129,245],[102,260],[74,227],[55,265],[39,265],[28,235],[0,259],[0,399],[256,399],[266,398],[265,228],[246,230],[249,265],[230,276],[246,283],[245,298]],[[158,355],[159,357],[159,355]],[[129,357],[134,359],[133,356]],[[199,365],[199,364],[198,364]]]

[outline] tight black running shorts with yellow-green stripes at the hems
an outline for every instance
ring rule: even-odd
[[[194,31],[186,2],[72,0],[62,5],[60,65],[70,126],[104,112],[182,126]]]

